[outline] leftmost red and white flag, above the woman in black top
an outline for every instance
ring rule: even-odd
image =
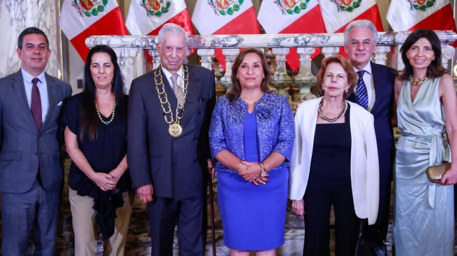
[[[91,35],[127,35],[116,0],[64,0],[59,19],[62,32],[86,61],[85,40]]]

